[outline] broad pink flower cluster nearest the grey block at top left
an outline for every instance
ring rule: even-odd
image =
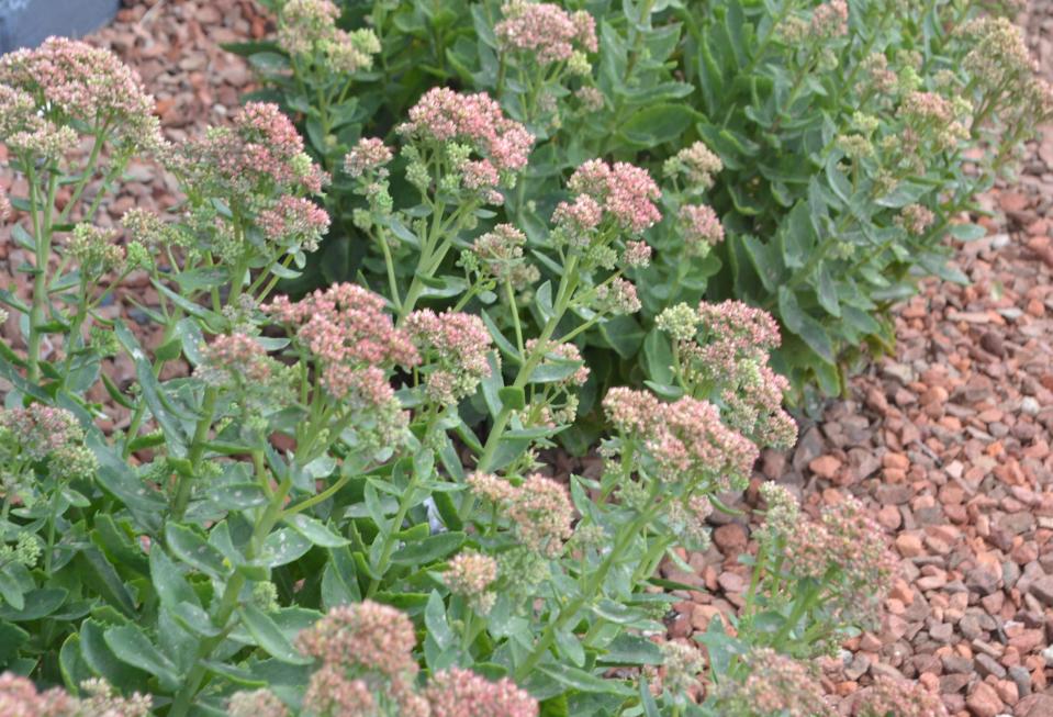
[[[46,125],[83,122],[139,149],[161,144],[154,99],[138,77],[113,53],[66,37],[48,37],[34,49],[19,49],[0,58],[0,86],[26,93],[41,109],[27,132],[47,131]],[[36,98],[33,100],[32,98]],[[0,115],[29,115],[0,103]],[[23,108],[24,109],[24,108]],[[0,125],[3,125],[0,120]],[[54,126],[51,125],[54,132]]]

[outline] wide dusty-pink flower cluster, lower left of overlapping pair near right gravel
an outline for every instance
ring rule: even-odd
[[[657,478],[670,483],[706,481],[719,490],[750,475],[759,450],[720,422],[716,406],[684,396],[672,403],[616,386],[603,400],[607,418],[627,438],[642,441]]]

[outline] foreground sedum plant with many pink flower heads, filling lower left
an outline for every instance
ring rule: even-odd
[[[329,60],[351,42],[322,32],[310,52]],[[544,225],[526,204],[513,223],[499,210],[541,135],[483,92],[428,90],[397,154],[360,138],[333,175],[272,103],[161,141],[134,76],[80,43],[0,59],[0,96],[27,187],[0,209],[33,277],[0,293],[21,332],[0,352],[4,709],[706,715],[753,690],[752,662],[774,694],[803,669],[787,656],[876,609],[856,597],[889,568],[860,507],[795,526],[770,492],[736,635],[714,620],[707,659],[659,646],[685,587],[659,565],[705,549],[720,494],[795,438],[778,328],[742,302],[663,311],[656,378],[598,401],[603,470],[544,474],[587,337],[642,309],[649,232],[676,206],[647,169],[583,158]],[[183,199],[108,226],[133,156]],[[682,206],[704,206],[687,199],[714,158],[670,167]],[[279,293],[338,184],[383,280]],[[686,215],[709,226],[704,255],[712,219]],[[124,293],[132,273],[156,299]],[[114,295],[138,302],[134,325],[104,311]]]

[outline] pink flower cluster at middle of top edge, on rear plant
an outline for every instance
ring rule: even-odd
[[[540,65],[570,59],[575,49],[596,52],[596,22],[584,10],[569,13],[550,2],[512,0],[494,25],[502,49],[530,53]]]

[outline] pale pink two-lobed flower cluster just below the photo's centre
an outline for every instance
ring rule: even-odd
[[[474,473],[468,485],[473,494],[503,508],[530,551],[547,558],[563,552],[563,544],[573,534],[574,519],[574,508],[563,485],[540,473],[529,475],[518,486],[496,475]]]

